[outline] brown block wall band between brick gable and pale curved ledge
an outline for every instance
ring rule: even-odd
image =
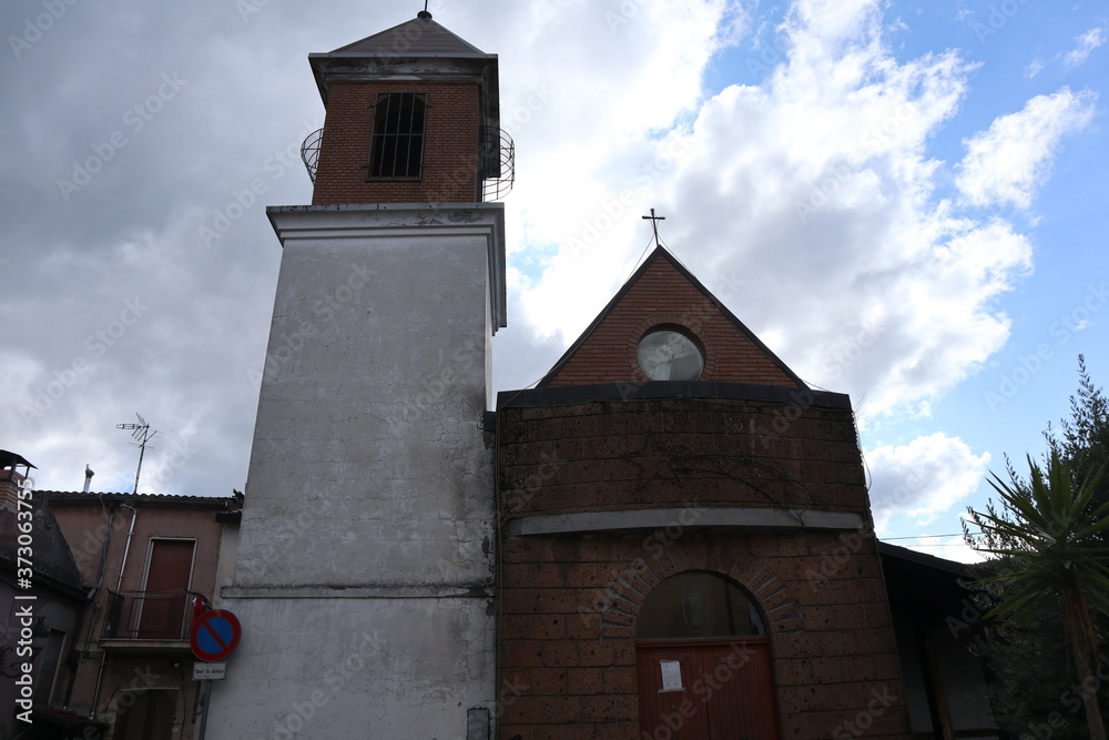
[[[505,515],[703,506],[867,516],[849,410],[722,398],[506,408]]]

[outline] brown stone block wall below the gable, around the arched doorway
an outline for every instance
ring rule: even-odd
[[[635,620],[662,580],[691,570],[723,576],[757,605],[782,738],[908,737],[867,528],[712,528],[716,506],[869,521],[849,410],[786,408],[671,398],[500,410],[502,531],[528,516],[673,509],[654,530],[502,537],[500,738],[644,737]]]

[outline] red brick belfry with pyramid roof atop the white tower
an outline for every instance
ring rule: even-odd
[[[304,150],[314,205],[467,203],[511,189],[497,55],[431,13],[308,61],[327,108]]]

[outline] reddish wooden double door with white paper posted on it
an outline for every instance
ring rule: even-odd
[[[765,637],[637,643],[642,740],[779,740]]]

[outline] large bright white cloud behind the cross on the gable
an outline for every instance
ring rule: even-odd
[[[516,321],[566,346],[630,273],[650,240],[639,216],[658,206],[663,240],[802,377],[851,393],[864,420],[926,415],[1004,345],[995,302],[1031,266],[1011,224],[935,197],[928,142],[974,67],[898,62],[876,2],[800,2],[784,30],[765,82],[725,88],[689,126],[599,132],[618,143],[548,211],[569,219],[545,225],[558,253]]]

